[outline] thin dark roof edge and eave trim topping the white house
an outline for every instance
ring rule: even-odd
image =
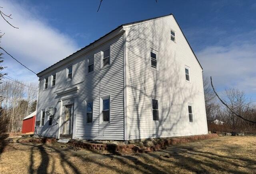
[[[100,39],[102,39],[103,37],[105,37],[105,36],[109,35],[110,33],[112,33],[113,31],[117,30],[117,29],[118,29],[118,28],[120,28],[120,27],[123,27],[123,26],[126,26],[126,25],[132,25],[132,24],[134,24],[134,23],[140,23],[140,22],[146,22],[146,21],[149,21],[149,20],[155,20],[155,19],[158,19],[158,18],[163,18],[163,17],[171,16],[171,15],[173,16],[174,20],[176,21],[176,23],[178,24],[178,26],[179,26],[179,28],[180,28],[179,23],[177,22],[177,20],[175,19],[174,15],[173,15],[172,13],[171,13],[171,14],[164,15],[164,16],[158,16],[158,17],[154,17],[154,18],[149,18],[149,19],[146,19],[146,20],[140,20],[140,21],[136,21],[136,22],[124,23],[124,24],[122,24],[122,25],[119,25],[118,27],[116,27],[116,28],[115,28],[115,29],[113,29],[112,31],[110,31],[110,32],[106,33],[104,36],[100,37],[99,39],[95,40],[94,42],[90,43],[89,45],[86,45],[85,47],[83,47],[83,48],[81,48],[80,50],[78,50],[78,51],[76,51],[76,52],[72,53],[72,54],[71,54],[71,55],[69,55],[68,57],[66,57],[66,58],[64,58],[64,59],[62,59],[62,60],[60,60],[60,61],[58,61],[58,62],[54,63],[53,65],[49,66],[48,68],[50,68],[50,67],[52,67],[52,66],[54,66],[54,65],[56,65],[56,64],[58,64],[58,63],[60,63],[60,62],[62,62],[62,61],[64,61],[65,59],[68,59],[68,58],[69,58],[69,57],[71,57],[72,55],[74,55],[74,54],[76,54],[76,53],[78,53],[78,52],[82,51],[83,49],[85,49],[85,48],[89,47],[90,45],[92,45],[92,44],[96,43],[97,41],[99,41],[99,40],[100,40]],[[180,31],[181,31],[181,32],[182,32],[182,34],[184,35],[184,33],[183,33],[183,31],[182,31],[182,29],[181,29],[181,28],[180,28]],[[193,52],[194,56],[196,57],[196,54],[194,53],[194,51],[193,51],[192,47],[190,46],[190,44],[189,44],[189,42],[188,42],[188,39],[186,38],[186,36],[185,36],[185,35],[184,35],[184,37],[185,37],[185,39],[186,39],[186,41],[187,41],[187,43],[188,43],[188,45],[189,45],[190,49],[192,50],[192,52]],[[196,60],[198,61],[197,57],[196,57]],[[198,61],[198,63],[199,63],[199,65],[201,66],[201,68],[203,69],[203,67],[202,67],[202,65],[200,64],[200,62],[199,62],[199,61]],[[38,74],[40,74],[40,73],[44,72],[44,71],[45,71],[45,70],[47,70],[48,68],[46,68],[46,69],[42,70],[41,72],[38,72],[38,73],[37,73],[37,76],[39,77],[39,75],[38,75]]]

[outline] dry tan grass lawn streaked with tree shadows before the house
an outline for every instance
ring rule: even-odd
[[[0,154],[0,173],[256,173],[256,137],[218,137],[131,156],[10,143]]]

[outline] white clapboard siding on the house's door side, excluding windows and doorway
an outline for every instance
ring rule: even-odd
[[[55,107],[58,115],[57,90],[79,86],[76,117],[76,139],[114,139],[124,140],[124,40],[123,34],[92,49],[88,53],[63,65],[51,74],[56,73],[56,86],[44,90],[44,80],[39,84],[36,121],[40,120],[41,110]],[[110,48],[110,67],[100,69],[100,51]],[[94,60],[94,71],[88,73],[88,59]],[[72,80],[66,81],[66,68],[72,65]],[[99,123],[100,97],[110,95],[110,124]],[[93,122],[86,124],[84,101],[93,101]],[[54,116],[57,117],[57,116]],[[48,126],[48,118],[43,127],[36,127],[40,136],[56,137],[56,120]]]

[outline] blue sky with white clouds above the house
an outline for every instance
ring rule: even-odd
[[[230,86],[256,100],[256,1],[254,0],[0,0],[11,13],[1,45],[39,72],[88,45],[122,23],[173,13],[194,49],[204,73],[221,92]],[[37,78],[4,56],[13,78]]]

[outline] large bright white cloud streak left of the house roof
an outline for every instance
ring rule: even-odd
[[[46,20],[37,16],[33,8],[13,1],[0,1],[2,11],[12,14],[10,22],[19,27],[14,29],[0,19],[2,33],[1,46],[26,66],[39,72],[60,59],[67,57],[78,50],[76,42],[57,29],[48,25]],[[31,73],[12,60],[3,56],[6,72],[14,78],[31,80]],[[33,79],[37,79],[33,76]]]

